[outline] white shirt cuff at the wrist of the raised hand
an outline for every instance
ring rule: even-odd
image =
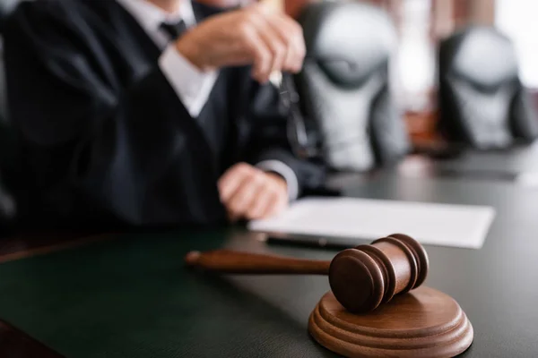
[[[192,117],[202,112],[218,72],[202,72],[181,55],[175,45],[169,45],[159,58],[161,72],[168,79],[178,98]]]

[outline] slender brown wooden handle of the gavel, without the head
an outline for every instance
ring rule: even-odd
[[[191,251],[187,266],[205,271],[233,274],[303,274],[328,275],[330,261],[292,259],[258,253],[216,250]]]

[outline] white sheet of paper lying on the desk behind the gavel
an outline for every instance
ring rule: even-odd
[[[420,243],[480,249],[495,210],[491,207],[355,198],[307,198],[279,217],[248,228],[285,233],[377,239],[408,234]],[[330,240],[330,239],[329,239]]]

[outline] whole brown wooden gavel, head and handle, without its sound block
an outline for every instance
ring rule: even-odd
[[[351,312],[372,311],[395,294],[421,286],[428,254],[405,234],[391,234],[369,245],[339,252],[333,260],[301,260],[239,251],[191,251],[188,266],[229,274],[328,275],[334,297]]]

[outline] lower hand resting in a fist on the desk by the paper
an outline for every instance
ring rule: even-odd
[[[231,221],[272,217],[288,206],[286,181],[246,163],[230,167],[218,186]]]

